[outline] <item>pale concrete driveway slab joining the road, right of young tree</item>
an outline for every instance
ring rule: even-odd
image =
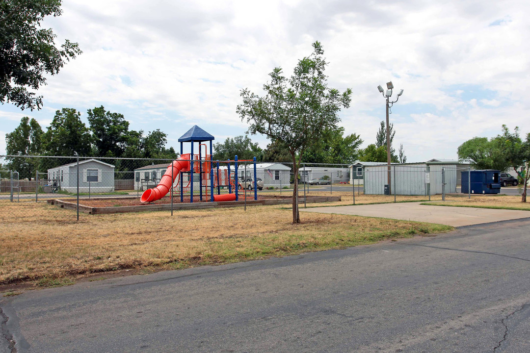
[[[530,218],[530,211],[430,206],[420,205],[420,202],[312,207],[310,209],[300,209],[300,211],[391,218],[405,221],[446,224],[453,227]]]

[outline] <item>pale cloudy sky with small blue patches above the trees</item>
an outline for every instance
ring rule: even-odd
[[[69,0],[63,9],[45,26],[83,54],[39,90],[41,111],[0,106],[0,154],[22,116],[45,127],[61,107],[86,122],[103,105],[131,129],[166,132],[175,149],[194,124],[216,141],[244,134],[240,90],[261,94],[277,66],[290,75],[315,40],[329,86],[353,91],[340,124],[364,146],[385,118],[377,85],[389,80],[404,89],[390,119],[408,161],[456,158],[462,142],[502,124],[530,132],[528,2]]]

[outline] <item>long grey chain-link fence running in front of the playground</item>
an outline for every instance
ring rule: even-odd
[[[173,214],[183,207],[175,205],[218,201],[218,195],[235,194],[222,200],[243,202],[244,210],[246,203],[254,200],[288,199],[295,185],[300,207],[319,205],[316,202],[323,200],[319,196],[340,196],[340,202],[337,197],[326,201],[352,205],[469,196],[460,193],[459,184],[462,171],[467,169],[448,165],[396,164],[389,168],[303,163],[295,175],[293,164],[288,162],[184,157],[190,155],[176,161],[0,156],[0,164],[11,167],[0,170],[0,207],[3,214],[20,217],[46,213],[57,219],[78,220],[80,214],[90,213],[94,207],[147,204],[153,207],[134,210]],[[158,191],[146,192],[154,188]]]

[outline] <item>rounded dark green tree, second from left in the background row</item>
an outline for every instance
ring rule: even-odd
[[[91,156],[92,136],[81,121],[81,113],[74,108],[56,111],[42,135],[42,149],[47,156]]]

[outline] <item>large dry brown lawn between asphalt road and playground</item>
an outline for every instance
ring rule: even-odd
[[[281,206],[80,215],[0,203],[0,284],[145,266],[183,268],[436,233],[443,225],[307,213]]]

